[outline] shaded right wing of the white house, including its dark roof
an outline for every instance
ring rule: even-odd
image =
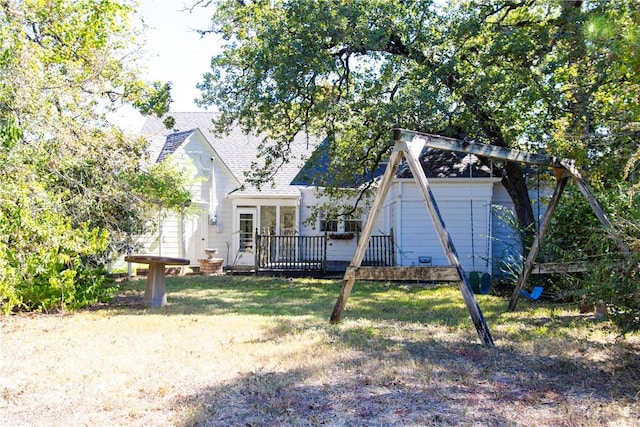
[[[500,178],[473,155],[424,149],[420,161],[465,271],[491,273],[494,192]],[[398,265],[448,265],[408,168],[400,167],[383,217],[382,226],[397,230]]]

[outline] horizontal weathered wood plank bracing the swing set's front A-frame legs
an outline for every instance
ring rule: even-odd
[[[349,267],[344,277],[355,280],[460,281],[456,267]]]

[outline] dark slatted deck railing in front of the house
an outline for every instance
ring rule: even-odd
[[[256,235],[256,271],[326,271],[327,235]],[[354,247],[355,249],[355,247]],[[344,260],[348,263],[350,260]],[[362,265],[395,265],[393,235],[371,236]]]

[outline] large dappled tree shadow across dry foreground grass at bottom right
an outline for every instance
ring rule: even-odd
[[[179,424],[633,425],[640,416],[638,349],[619,352],[624,360],[588,362],[371,335],[354,353],[346,351],[351,332],[334,332],[336,351],[351,356],[321,368],[248,372],[199,390],[175,402],[197,408]]]

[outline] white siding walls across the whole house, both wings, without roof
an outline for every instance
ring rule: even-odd
[[[199,132],[189,137],[174,156],[191,173],[192,205],[200,207],[200,211],[192,212],[184,222],[179,214],[168,215],[162,220],[161,230],[141,238],[144,245],[141,252],[178,257],[186,255],[191,265],[198,265],[198,259],[205,257],[204,248],[218,248],[218,256],[229,265],[237,251],[234,215],[238,206],[258,208],[256,224],[260,223],[261,205],[296,206],[298,233],[304,236],[323,234],[319,231],[318,221],[307,223],[313,207],[323,202],[314,188],[297,187],[301,192],[299,200],[263,194],[251,198],[233,193],[239,185],[236,178]],[[466,271],[496,274],[500,261],[513,252],[513,247],[517,247],[517,233],[494,214],[494,205],[512,207],[508,194],[496,181],[495,178],[429,180],[440,214]],[[365,218],[363,224],[364,221]],[[413,180],[396,180],[378,213],[373,234],[389,234],[391,230],[399,265],[421,265],[419,257],[431,257],[431,265],[434,266],[449,264]],[[494,239],[490,238],[492,235]],[[350,261],[356,244],[356,239],[329,240],[328,261]]]

